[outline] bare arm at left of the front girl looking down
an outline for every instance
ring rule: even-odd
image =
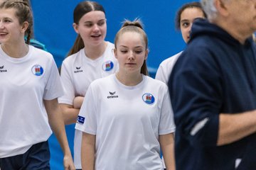
[[[81,162],[82,169],[95,169],[95,135],[82,133]]]

